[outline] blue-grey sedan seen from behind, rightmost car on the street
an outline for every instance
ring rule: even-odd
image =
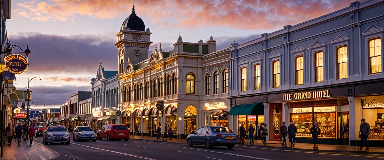
[[[206,126],[196,130],[194,134],[187,136],[189,147],[194,145],[205,145],[207,148],[214,146],[227,146],[232,149],[235,144],[239,144],[238,135],[228,127]]]

